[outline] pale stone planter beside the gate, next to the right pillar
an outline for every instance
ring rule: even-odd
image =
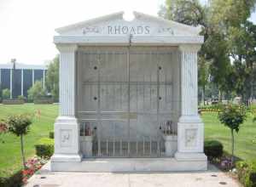
[[[177,151],[177,135],[163,135],[165,139],[166,156],[174,156]]]

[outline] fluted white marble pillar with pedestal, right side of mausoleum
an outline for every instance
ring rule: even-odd
[[[177,123],[177,153],[179,161],[203,161],[204,124],[198,115],[197,103],[197,53],[200,45],[180,45],[180,117]],[[202,168],[206,169],[206,168]]]

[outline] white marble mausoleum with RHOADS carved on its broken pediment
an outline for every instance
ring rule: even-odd
[[[60,112],[52,171],[207,169],[197,108],[201,27],[123,12],[55,30]]]

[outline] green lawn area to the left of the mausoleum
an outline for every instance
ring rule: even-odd
[[[38,113],[36,115],[30,132],[25,136],[26,158],[35,154],[34,144],[42,137],[48,137],[49,131],[53,130],[55,117],[58,113],[57,105],[0,105],[0,119],[11,114]],[[13,134],[1,135],[4,144],[0,143],[0,176],[9,175],[21,168],[20,138]]]

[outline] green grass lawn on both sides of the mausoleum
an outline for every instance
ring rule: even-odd
[[[58,105],[0,105],[0,119],[18,113],[34,113],[30,132],[25,136],[26,159],[34,156],[34,144],[38,139],[49,136],[53,130],[55,117],[58,114]],[[217,112],[203,112],[205,122],[205,139],[219,140],[224,144],[224,150],[230,152],[230,129],[218,122]],[[0,144],[0,176],[14,173],[22,167],[20,156],[20,139],[15,135],[6,133]],[[236,134],[235,155],[241,159],[256,157],[256,125],[252,116],[241,125],[240,132]]]

